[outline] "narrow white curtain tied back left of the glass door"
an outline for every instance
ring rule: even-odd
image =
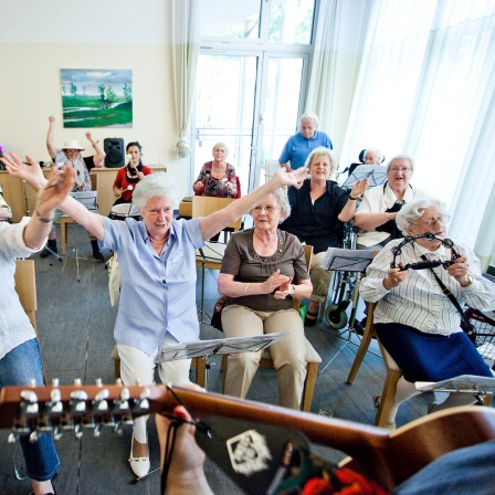
[[[200,41],[200,0],[170,0],[173,96],[179,139],[173,151],[180,158],[190,155],[186,138],[191,119]]]

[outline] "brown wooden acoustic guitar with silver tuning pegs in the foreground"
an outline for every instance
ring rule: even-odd
[[[325,418],[276,406],[181,387],[94,385],[6,387],[0,391],[0,428],[30,434],[98,431],[134,418],[171,412],[182,403],[197,419],[221,415],[297,429],[315,443],[345,452],[351,468],[391,489],[452,450],[495,439],[495,410],[463,407],[440,411],[396,431]]]

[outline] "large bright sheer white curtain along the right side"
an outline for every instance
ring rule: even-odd
[[[449,204],[450,236],[482,259],[495,247],[494,67],[495,2],[375,0],[341,154],[415,157],[412,183]]]

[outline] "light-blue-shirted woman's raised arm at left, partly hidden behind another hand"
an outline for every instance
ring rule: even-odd
[[[25,180],[35,189],[42,189],[46,186],[48,180],[43,176],[39,164],[36,164],[30,156],[25,157],[29,165],[25,165],[13,152],[3,155],[3,158],[0,159],[3,161],[11,176]],[[78,201],[70,196],[65,198],[59,208],[64,213],[72,217],[78,224],[83,225],[93,235],[99,240],[103,240],[103,217],[101,214],[88,211]]]

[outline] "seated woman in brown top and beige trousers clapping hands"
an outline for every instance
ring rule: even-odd
[[[305,337],[293,299],[308,297],[313,288],[304,251],[295,235],[278,230],[278,223],[291,213],[282,189],[251,213],[254,229],[234,233],[222,261],[219,292],[228,296],[222,326],[227,337],[289,333],[270,350],[278,376],[280,402],[298,409],[306,377]],[[225,393],[245,397],[261,354],[229,356]]]

